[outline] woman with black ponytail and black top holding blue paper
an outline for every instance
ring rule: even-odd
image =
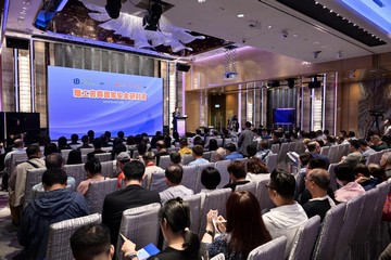
[[[190,207],[181,198],[167,200],[159,211],[160,226],[167,248],[148,260],[200,260],[200,239],[189,230]],[[125,240],[122,251],[126,259],[138,259],[136,244]],[[128,257],[131,256],[131,257]]]

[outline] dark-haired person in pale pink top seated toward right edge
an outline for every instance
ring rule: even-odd
[[[337,202],[346,203],[365,193],[364,187],[355,182],[354,171],[350,165],[340,164],[335,168],[335,172],[337,182],[342,185],[341,188],[335,192]]]

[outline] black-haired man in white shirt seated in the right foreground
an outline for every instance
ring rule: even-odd
[[[272,202],[277,206],[264,213],[262,219],[272,238],[288,238],[286,258],[292,247],[298,229],[308,219],[302,206],[294,200],[294,177],[281,170],[270,173],[270,182],[266,185]]]

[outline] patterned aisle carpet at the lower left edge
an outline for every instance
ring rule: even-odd
[[[20,252],[16,231],[17,227],[11,223],[8,193],[0,192],[0,259],[12,259]]]

